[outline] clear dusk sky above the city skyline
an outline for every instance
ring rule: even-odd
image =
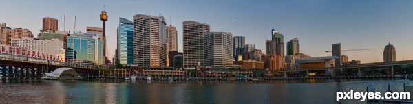
[[[66,31],[74,30],[74,16],[75,31],[101,27],[99,14],[105,9],[109,59],[116,49],[119,17],[162,14],[167,25],[177,27],[181,52],[182,22],[198,21],[209,24],[211,31],[245,36],[246,44],[255,44],[264,53],[265,40],[275,29],[284,35],[284,42],[299,38],[300,52],[312,57],[330,56],[325,51],[341,43],[343,50],[373,48],[343,53],[349,60],[383,62],[383,49],[390,42],[396,60],[413,60],[413,1],[408,0],[13,0],[1,1],[0,7],[0,23],[29,29],[35,37],[47,16],[59,20],[59,31],[64,29],[63,16]]]

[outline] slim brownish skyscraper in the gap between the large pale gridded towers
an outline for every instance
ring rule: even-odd
[[[178,32],[176,27],[169,25],[167,26],[167,38],[168,38],[168,52],[178,51]]]

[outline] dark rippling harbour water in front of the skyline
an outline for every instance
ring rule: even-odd
[[[366,103],[336,102],[336,92],[376,91],[402,79],[301,79],[273,81],[1,80],[0,103]]]

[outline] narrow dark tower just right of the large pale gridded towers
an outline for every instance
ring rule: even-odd
[[[237,59],[238,55],[242,55],[244,53],[245,47],[245,36],[234,36],[233,37],[233,57],[235,60]]]

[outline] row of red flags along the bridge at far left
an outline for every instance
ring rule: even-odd
[[[12,47],[9,47],[9,51],[10,50],[12,50]],[[4,53],[9,53],[9,51],[7,51],[4,46],[1,46],[0,53],[3,53],[3,52]],[[37,57],[37,58],[42,58],[42,59],[47,59],[47,60],[54,60],[54,61],[62,61],[62,59],[59,56],[57,56],[57,58],[56,58],[53,55],[48,55],[48,54],[45,55],[45,53],[41,53],[42,55],[40,55],[40,53],[37,52],[37,55],[36,55],[36,51],[31,51],[31,52],[32,53],[30,53],[30,50],[26,51],[25,49],[21,49],[21,51],[20,51],[19,47],[16,47],[16,54],[17,55],[25,55],[27,57]]]

